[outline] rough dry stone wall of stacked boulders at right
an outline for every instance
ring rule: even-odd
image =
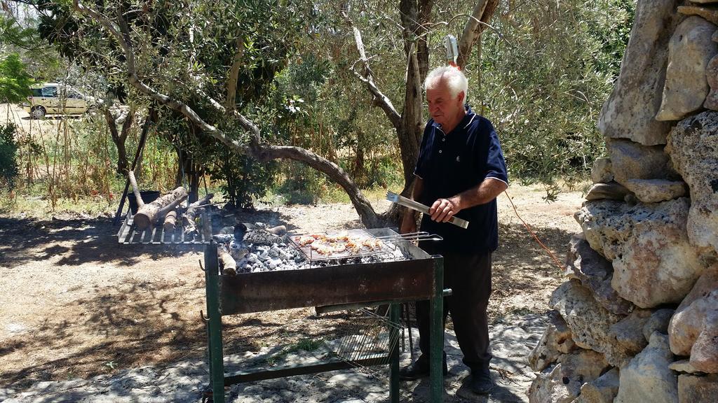
[[[718,402],[718,0],[638,0],[530,402]]]

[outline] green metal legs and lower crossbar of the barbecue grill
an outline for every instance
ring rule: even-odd
[[[432,291],[431,305],[431,401],[440,403],[443,401],[443,379],[442,374],[442,351],[444,346],[443,328],[443,259],[437,257],[434,261],[434,290]],[[296,376],[303,374],[316,374],[325,371],[339,369],[351,369],[355,366],[372,366],[386,364],[389,359],[389,397],[391,403],[399,402],[399,349],[398,349],[398,326],[390,326],[390,338],[393,341],[388,356],[380,354],[370,356],[366,359],[350,364],[345,361],[331,361],[322,364],[310,364],[303,366],[286,366],[262,371],[238,371],[233,374],[225,374],[224,356],[222,345],[222,276],[220,275],[217,246],[210,243],[205,247],[205,292],[207,297],[207,342],[208,342],[208,364],[210,369],[210,387],[212,390],[211,402],[225,403],[224,388],[232,384],[262,379],[276,379],[285,376]],[[373,301],[367,301],[372,303]],[[389,306],[389,321],[391,324],[399,323],[399,308],[401,302],[406,300],[392,300]]]

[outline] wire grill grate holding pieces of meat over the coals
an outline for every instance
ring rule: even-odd
[[[307,245],[300,245],[299,242],[297,242],[297,237],[302,236],[312,236],[309,234],[290,234],[289,240],[292,242],[292,245],[294,247],[297,247],[302,252],[302,255],[307,258],[309,262],[319,262],[322,260],[337,260],[337,259],[345,259],[348,257],[369,257],[369,256],[380,256],[380,255],[390,255],[393,254],[394,251],[396,251],[396,245],[393,245],[393,243],[388,242],[388,240],[380,240],[379,238],[375,237],[373,234],[370,234],[370,232],[366,231],[365,229],[348,229],[346,231],[339,231],[339,232],[327,232],[326,234],[320,234],[320,235],[326,235],[329,237],[337,236],[338,234],[347,234],[350,239],[353,240],[375,240],[379,242],[379,247],[377,248],[371,248],[365,245],[361,245],[360,247],[354,249],[354,250],[344,250],[342,252],[330,252],[330,253],[320,253],[316,250],[312,249],[312,244]],[[316,242],[316,241],[315,241]],[[337,245],[344,244],[346,245],[346,241],[336,241],[334,242]]]

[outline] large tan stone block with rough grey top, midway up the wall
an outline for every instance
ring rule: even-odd
[[[685,198],[633,206],[587,201],[575,217],[591,247],[612,261],[612,288],[653,308],[681,301],[705,269],[686,234],[689,207]]]

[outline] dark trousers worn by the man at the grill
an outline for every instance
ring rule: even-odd
[[[451,288],[451,296],[444,298],[444,323],[451,313],[454,332],[464,364],[472,371],[488,371],[489,328],[486,308],[491,295],[491,252],[466,255],[440,252],[444,256],[444,288]],[[429,357],[429,301],[416,302],[421,354]]]

